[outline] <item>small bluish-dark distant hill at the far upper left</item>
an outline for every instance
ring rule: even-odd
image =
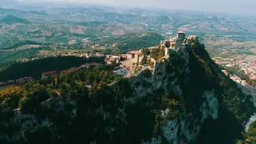
[[[16,16],[13,16],[11,14],[7,14],[6,16],[4,16],[1,20],[1,23],[5,23],[8,25],[14,24],[14,23],[24,23],[24,24],[29,24],[30,22],[26,19],[22,19]]]

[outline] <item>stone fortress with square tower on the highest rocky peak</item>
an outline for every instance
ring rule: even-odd
[[[160,49],[165,49],[165,56],[169,54],[171,50],[178,50],[181,47],[188,45],[188,40],[195,40],[197,35],[189,35],[186,38],[186,33],[183,31],[178,31],[176,37],[171,37],[169,40],[164,40],[160,42]]]

